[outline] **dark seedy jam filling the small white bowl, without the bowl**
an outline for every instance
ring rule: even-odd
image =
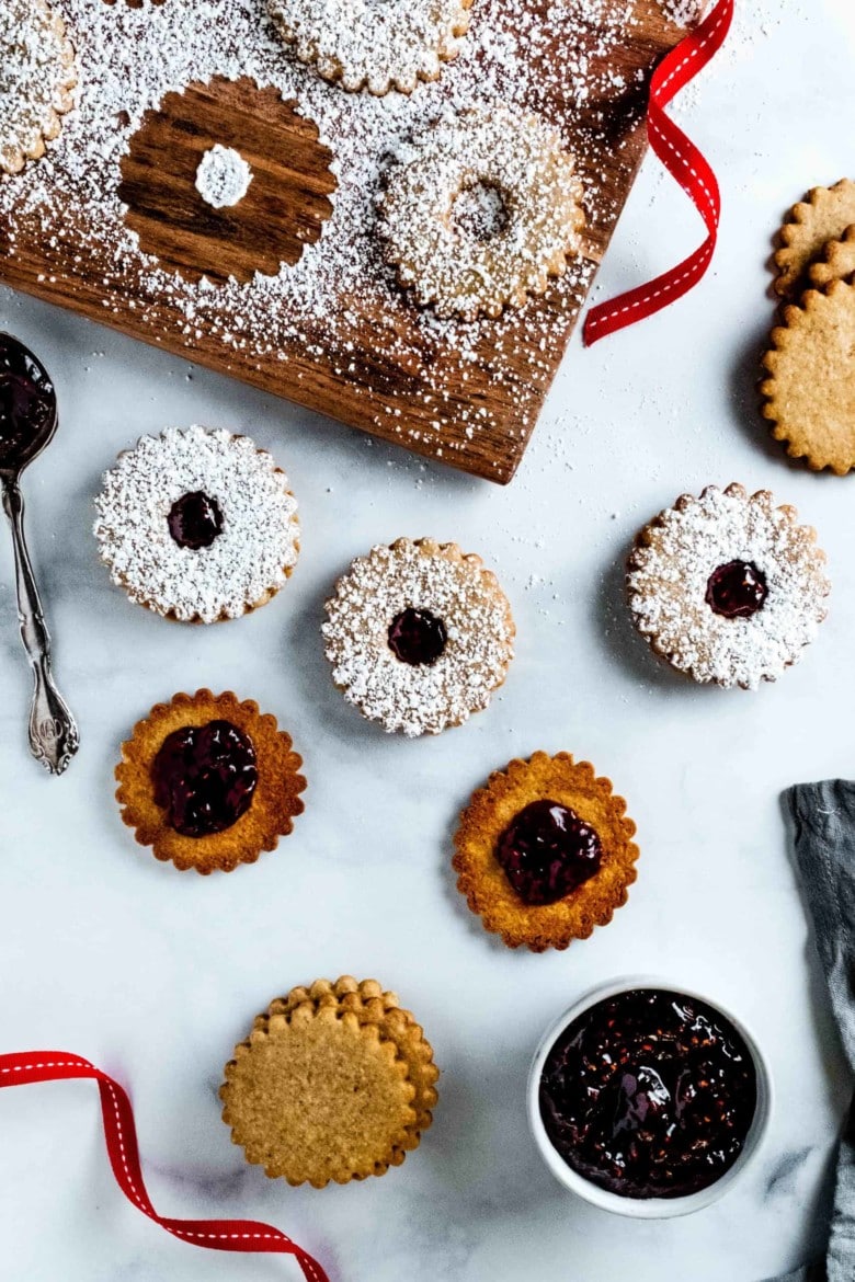
[[[619,992],[574,1019],[540,1085],[546,1133],[591,1183],[685,1197],[740,1156],[758,1104],[754,1059],[719,1011],[679,992]]]

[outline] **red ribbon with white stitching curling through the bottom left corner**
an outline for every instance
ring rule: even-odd
[[[253,1219],[167,1219],[164,1215],[158,1215],[142,1182],[131,1101],[118,1082],[100,1068],[95,1068],[87,1059],[64,1051],[44,1050],[0,1055],[0,1087],[24,1086],[28,1082],[56,1082],[74,1077],[87,1077],[97,1082],[104,1114],[104,1136],[113,1174],[124,1196],[144,1215],[192,1246],[206,1246],[213,1251],[267,1251],[274,1255],[294,1255],[306,1282],[329,1282],[308,1251],[269,1224],[260,1224]]]

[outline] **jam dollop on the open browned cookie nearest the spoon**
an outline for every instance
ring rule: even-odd
[[[154,800],[185,837],[237,823],[258,783],[253,741],[227,720],[183,726],[164,738],[151,767]]]

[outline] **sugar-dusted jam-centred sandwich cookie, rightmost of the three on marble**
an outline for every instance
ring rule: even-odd
[[[700,682],[756,688],[797,662],[826,617],[826,554],[767,490],[683,495],[640,532],[629,610],[651,649]]]

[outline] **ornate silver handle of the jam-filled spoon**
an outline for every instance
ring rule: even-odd
[[[12,526],[15,549],[21,640],[35,678],[29,708],[29,751],[51,774],[62,774],[79,747],[79,733],[50,670],[50,632],[24,540],[24,500],[17,481],[4,481],[3,509]]]

